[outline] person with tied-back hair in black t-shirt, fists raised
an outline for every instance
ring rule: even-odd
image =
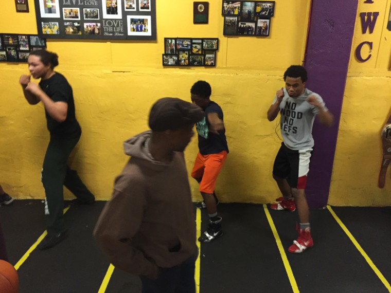
[[[77,197],[76,203],[93,204],[94,195],[85,187],[76,171],[67,166],[67,159],[80,139],[81,128],[75,117],[72,87],[66,78],[54,71],[58,56],[46,50],[32,51],[28,57],[30,75],[19,79],[23,94],[31,105],[42,102],[45,107],[50,141],[43,161],[41,179],[45,189],[45,221],[47,235],[39,249],[57,245],[66,237],[63,186]],[[41,79],[38,83],[30,81]]]

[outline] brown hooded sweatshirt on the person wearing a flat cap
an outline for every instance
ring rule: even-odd
[[[182,152],[171,163],[155,161],[146,148],[151,131],[123,143],[131,158],[116,177],[94,236],[117,268],[149,276],[197,253],[195,217]]]

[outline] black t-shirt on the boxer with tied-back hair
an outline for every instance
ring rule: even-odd
[[[41,80],[40,86],[45,94],[53,101],[68,104],[68,111],[64,122],[58,122],[51,118],[45,109],[47,129],[50,135],[77,135],[80,133],[80,125],[75,116],[75,102],[72,87],[70,87],[66,78],[56,72],[49,79]]]

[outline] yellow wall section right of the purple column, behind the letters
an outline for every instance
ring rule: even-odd
[[[391,1],[359,1],[349,73],[329,194],[331,205],[391,205],[391,170],[385,187],[377,187],[382,158],[380,130],[391,113],[391,31],[386,29]],[[360,12],[380,12],[373,33],[362,34]],[[373,42],[372,57],[359,62],[357,46]],[[364,46],[366,58],[369,48]]]

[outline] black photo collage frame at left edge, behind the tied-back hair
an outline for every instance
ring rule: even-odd
[[[45,48],[37,34],[0,33],[0,62],[27,62],[30,51]]]

